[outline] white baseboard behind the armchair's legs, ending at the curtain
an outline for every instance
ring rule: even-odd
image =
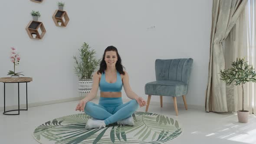
[[[130,98],[123,98],[124,102],[128,102],[130,100],[131,100]],[[158,105],[158,106],[160,106],[160,101],[150,101],[149,105]],[[167,107],[173,107],[174,103],[163,102],[163,105],[167,106]],[[178,108],[185,108],[184,104],[177,104],[177,107]],[[204,106],[201,106],[201,105],[187,105],[187,108],[188,109],[191,108],[191,109],[195,109],[195,110],[204,110],[205,109]]]

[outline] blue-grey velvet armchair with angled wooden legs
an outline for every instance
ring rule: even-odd
[[[145,85],[145,94],[148,95],[146,112],[148,111],[151,95],[160,95],[161,108],[163,107],[163,96],[173,97],[176,115],[178,115],[176,97],[182,96],[185,108],[187,110],[185,95],[187,94],[192,63],[193,59],[191,58],[156,59],[156,81],[148,82]]]

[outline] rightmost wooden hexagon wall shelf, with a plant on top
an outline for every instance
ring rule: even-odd
[[[53,14],[53,21],[56,26],[66,27],[69,23],[69,16],[66,11],[55,10]],[[58,24],[58,21],[61,21],[61,25]]]

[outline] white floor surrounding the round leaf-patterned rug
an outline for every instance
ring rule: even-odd
[[[97,103],[97,99],[93,102]],[[0,144],[39,144],[32,137],[34,129],[40,124],[66,115],[80,113],[75,111],[78,101],[53,105],[43,105],[20,111],[20,115],[0,114]],[[144,111],[139,108],[138,111]],[[237,122],[236,113],[207,113],[205,111],[178,108],[176,116],[170,106],[150,105],[154,112],[176,119],[183,128],[181,136],[171,144],[256,144],[256,116],[249,116],[249,123]]]

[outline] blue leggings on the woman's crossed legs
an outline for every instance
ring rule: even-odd
[[[86,103],[85,113],[92,118],[104,120],[105,124],[108,125],[130,117],[138,107],[138,102],[135,99],[123,104],[121,97],[100,97],[98,105],[91,101]]]

